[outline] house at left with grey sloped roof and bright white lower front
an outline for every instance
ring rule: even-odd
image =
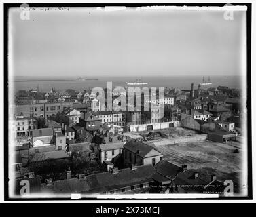
[[[33,147],[51,145],[53,144],[53,135],[52,128],[32,130],[31,144]]]

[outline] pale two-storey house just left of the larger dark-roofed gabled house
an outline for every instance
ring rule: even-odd
[[[124,142],[116,142],[111,144],[100,144],[98,146],[98,161],[115,162],[118,157],[121,157]]]

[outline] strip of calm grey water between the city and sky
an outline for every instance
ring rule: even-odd
[[[40,92],[50,92],[52,87],[55,90],[64,91],[73,89],[77,91],[92,89],[93,87],[103,87],[107,85],[107,81],[112,81],[113,88],[116,86],[126,86],[126,82],[133,83],[138,81],[147,82],[148,87],[177,87],[179,89],[190,90],[191,83],[194,83],[195,88],[199,83],[202,83],[202,76],[147,76],[147,77],[83,77],[84,79],[94,80],[77,80],[78,77],[14,77],[14,81],[10,85],[14,85],[14,90],[30,90],[39,87]],[[204,77],[208,81],[208,77]],[[211,76],[212,85],[202,86],[202,88],[218,87],[219,85],[241,88],[242,79],[240,76]],[[132,87],[132,86],[130,86]]]

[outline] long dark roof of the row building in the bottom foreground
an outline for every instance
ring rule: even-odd
[[[103,193],[127,186],[153,182],[151,176],[156,172],[153,165],[142,165],[136,170],[130,168],[119,170],[117,174],[103,172],[86,176],[84,179],[71,178],[53,182],[45,190],[54,193]]]

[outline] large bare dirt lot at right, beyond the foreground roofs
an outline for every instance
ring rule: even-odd
[[[215,174],[218,180],[230,179],[239,183],[243,150],[238,142],[230,146],[206,140],[158,146],[158,149],[164,154],[163,159],[178,166],[186,164],[187,169],[199,172],[206,181],[210,181],[211,174]],[[235,149],[239,153],[234,153]]]

